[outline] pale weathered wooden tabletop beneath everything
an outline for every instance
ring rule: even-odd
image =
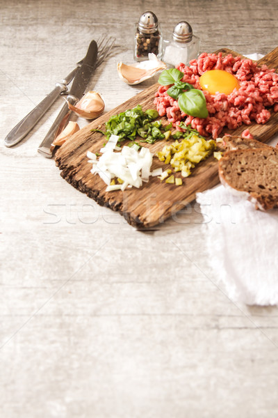
[[[117,39],[90,85],[106,111],[152,84],[128,86],[116,70],[133,61],[143,11],[165,33],[190,22],[202,51],[266,54],[277,46],[277,8],[0,0],[0,417],[277,416],[278,311],[235,304],[215,283],[195,202],[142,233],[67,184],[37,153],[62,98],[22,144],[3,146],[101,33]]]

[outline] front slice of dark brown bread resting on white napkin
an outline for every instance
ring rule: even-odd
[[[273,147],[227,151],[218,162],[221,183],[252,201],[257,209],[278,206],[278,150]]]

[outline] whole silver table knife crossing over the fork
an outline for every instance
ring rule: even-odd
[[[76,76],[74,77],[74,81],[72,82],[72,87],[70,88],[69,95],[67,96],[67,100],[70,101],[72,104],[76,103],[77,100],[80,100],[88,82],[90,81],[90,77],[95,70],[95,65],[97,62],[97,42],[92,40],[90,42],[90,46],[88,48],[88,52],[83,59],[83,63],[79,70],[76,72]],[[46,137],[40,144],[38,148],[38,152],[44,155],[44,157],[51,158],[54,147],[51,146],[55,137],[59,132],[63,130],[67,123],[67,119],[70,116],[70,109],[68,108],[67,102],[63,105],[60,113],[58,114],[56,120],[54,121],[53,125],[51,126],[49,132],[47,132]]]

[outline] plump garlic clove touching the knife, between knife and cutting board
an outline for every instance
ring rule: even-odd
[[[67,102],[70,110],[85,119],[95,119],[104,111],[104,100],[97,91],[88,91],[75,105]]]

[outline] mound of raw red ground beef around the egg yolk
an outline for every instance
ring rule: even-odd
[[[274,111],[278,111],[278,75],[266,65],[257,67],[251,59],[241,59],[231,54],[222,57],[221,53],[216,55],[204,52],[198,59],[190,61],[189,66],[180,63],[177,68],[184,74],[182,82],[193,84],[199,89],[199,77],[208,70],[225,70],[240,82],[240,88],[229,95],[210,95],[204,91],[209,114],[207,118],[194,118],[183,113],[177,100],[167,95],[170,86],[159,86],[154,104],[159,115],[166,115],[177,130],[181,130],[179,123],[183,121],[204,137],[212,135],[215,139],[224,126],[236,129],[243,123],[250,125],[252,121],[267,122],[270,111],[266,107],[273,106]]]

